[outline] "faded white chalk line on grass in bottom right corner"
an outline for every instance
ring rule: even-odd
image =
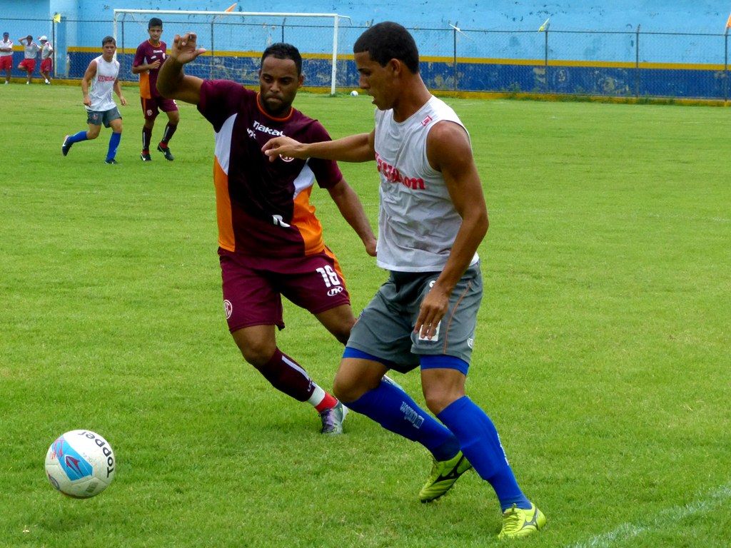
[[[721,485],[721,487],[711,491],[700,501],[694,501],[683,506],[673,506],[659,511],[654,519],[649,522],[623,523],[608,533],[602,533],[601,535],[591,537],[587,541],[572,544],[572,548],[610,547],[616,542],[634,539],[643,533],[665,529],[668,525],[673,525],[678,520],[683,520],[686,517],[711,511],[729,499],[731,499],[731,485]]]

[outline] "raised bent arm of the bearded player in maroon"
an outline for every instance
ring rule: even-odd
[[[168,99],[179,99],[186,103],[200,102],[200,86],[203,80],[194,76],[187,76],[183,66],[204,53],[202,47],[197,47],[196,34],[189,32],[175,34],[173,47],[167,51],[167,59],[157,74],[157,91]]]

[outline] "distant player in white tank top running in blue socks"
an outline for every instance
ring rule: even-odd
[[[75,142],[96,139],[102,129],[112,128],[107,148],[106,164],[117,164],[115,156],[122,137],[122,116],[112,98],[112,91],[119,97],[124,106],[127,100],[122,95],[119,85],[119,61],[114,58],[117,43],[113,37],[102,39],[102,55],[91,60],[81,80],[83,104],[86,107],[88,130],[82,130],[73,135],[67,135],[61,145],[61,153],[66,156]],[[91,89],[90,89],[91,87]]]

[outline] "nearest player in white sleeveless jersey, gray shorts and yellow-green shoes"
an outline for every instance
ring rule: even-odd
[[[464,390],[482,296],[477,247],[488,229],[469,135],[424,85],[416,44],[403,26],[368,28],[353,52],[360,87],[379,110],[374,131],[312,144],[276,137],[264,147],[270,159],[376,160],[377,262],[391,274],[352,330],[335,393],[432,453],[422,502],[444,495],[474,467],[498,496],[500,538],[536,533],[545,516],[523,495],[491,419]],[[443,425],[385,378],[389,369],[417,365],[426,404]]]

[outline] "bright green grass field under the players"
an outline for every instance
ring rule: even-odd
[[[118,166],[80,89],[0,86],[0,547],[488,547],[499,506],[469,473],[416,494],[420,446],[309,406],[246,365],[221,308],[211,128],[181,107],[174,162],[142,164],[125,88]],[[491,229],[468,392],[548,516],[524,547],[727,547],[731,539],[731,111],[454,100]],[[333,137],[365,96],[302,94]],[[164,127],[159,118],[154,139]],[[342,166],[374,221],[373,164]],[[359,311],[385,279],[327,192],[327,242]],[[285,308],[281,349],[329,388],[341,349]],[[422,403],[418,376],[395,376]],[[43,471],[95,430],[118,473],[88,501]]]

